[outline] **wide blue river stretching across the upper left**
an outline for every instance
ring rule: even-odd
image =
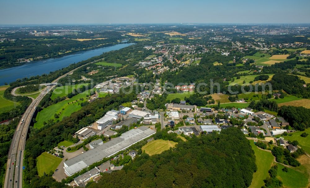
[[[14,82],[16,81],[16,79],[19,78],[25,78],[25,77],[29,78],[31,76],[49,74],[50,72],[53,72],[55,70],[67,67],[70,64],[78,63],[80,61],[87,60],[94,56],[99,56],[104,52],[119,50],[121,48],[135,44],[124,42],[126,41],[122,41],[122,43],[109,47],[102,47],[102,48],[96,48],[94,50],[81,51],[59,58],[31,61],[17,67],[0,69],[0,86],[4,85],[4,83]]]

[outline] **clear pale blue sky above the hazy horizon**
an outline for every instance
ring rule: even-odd
[[[0,24],[310,23],[310,0],[1,0]]]

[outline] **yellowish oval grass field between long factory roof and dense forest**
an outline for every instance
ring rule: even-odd
[[[169,140],[153,140],[142,147],[142,151],[149,155],[160,154],[165,150],[169,150],[170,147],[175,147],[177,143]]]

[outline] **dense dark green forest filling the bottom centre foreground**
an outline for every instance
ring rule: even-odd
[[[237,128],[228,128],[179,141],[161,154],[143,153],[86,187],[248,187],[256,170],[249,141]]]

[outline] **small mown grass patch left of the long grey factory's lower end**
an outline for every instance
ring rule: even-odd
[[[60,162],[62,161],[61,158],[56,157],[52,154],[49,154],[47,152],[42,153],[40,156],[38,156],[38,173],[39,176],[43,176],[44,172],[46,174],[50,173],[51,171],[54,172]]]

